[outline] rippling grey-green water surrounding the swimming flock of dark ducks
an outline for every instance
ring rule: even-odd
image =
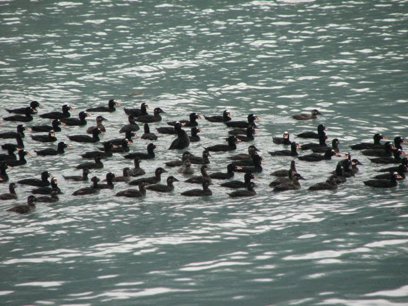
[[[5,210],[24,202],[30,187],[18,187],[18,201],[0,203],[2,304],[408,302],[406,182],[386,190],[364,186],[378,166],[351,151],[364,166],[337,191],[307,190],[335,168],[332,160],[297,162],[307,179],[303,188],[274,194],[269,173],[288,168],[291,158],[267,154],[282,149],[272,136],[289,131],[296,139],[319,123],[330,139],[340,139],[341,152],[374,133],[408,136],[406,1],[5,1],[0,14],[2,117],[5,107],[33,99],[40,113],[69,104],[72,116],[110,98],[123,107],[146,101],[166,112],[150,125],[153,132],[192,111],[230,109],[235,120],[261,117],[254,143],[267,159],[255,197],[230,199],[216,182],[211,197],[177,196],[196,186],[175,183],[173,193],[129,200],[113,196],[127,188],[123,183],[97,196],[70,196],[84,184],[61,175],[79,174],[78,154],[94,145],[72,143],[56,158],[33,155],[8,171],[11,181],[48,169],[64,196],[22,216]],[[290,117],[313,108],[323,116]],[[103,138],[118,137],[127,121],[121,107],[104,116]],[[201,143],[189,147],[197,155],[202,144],[222,143],[227,131],[206,120],[199,126]],[[57,138],[83,132],[66,127]],[[172,139],[161,136],[157,157],[142,162],[147,175],[181,156],[167,151]],[[29,136],[25,144],[31,152],[46,147]],[[132,151],[146,145],[137,140]],[[224,171],[225,157],[234,153],[213,154],[211,171]],[[132,162],[116,155],[104,164],[92,175],[119,174]]]

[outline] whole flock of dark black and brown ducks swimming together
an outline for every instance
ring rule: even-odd
[[[133,137],[138,137],[136,134],[140,130],[139,124],[143,124],[144,133],[141,135],[141,139],[156,141],[158,135],[150,132],[149,123],[162,121],[161,115],[165,113],[161,108],[154,109],[152,114],[148,114],[150,110],[146,103],[142,103],[140,108],[130,109],[123,108],[123,111],[127,115],[129,124],[121,127],[119,130],[120,137],[101,141],[99,136],[105,134],[106,129],[104,121],[107,119],[98,115],[96,117],[96,124],[87,126],[87,118],[90,117],[90,113],[104,113],[116,111],[116,107],[120,106],[117,101],[111,99],[108,101],[108,106],[99,106],[95,108],[89,108],[85,111],[81,111],[78,114],[78,118],[72,118],[70,111],[73,109],[69,105],[63,105],[62,110],[53,111],[49,113],[40,114],[39,117],[49,119],[49,124],[32,125],[31,131],[45,134],[30,134],[30,137],[34,141],[50,143],[48,146],[41,150],[34,150],[37,156],[56,156],[65,154],[65,149],[70,148],[70,145],[64,141],[57,142],[59,132],[63,129],[68,129],[67,126],[83,126],[87,127],[84,132],[86,134],[80,135],[68,135],[70,142],[77,142],[84,144],[84,150],[86,150],[89,144],[100,144],[96,150],[85,151],[81,155],[84,159],[92,159],[80,163],[75,168],[81,169],[81,175],[62,175],[64,180],[87,182],[90,181],[90,186],[82,187],[72,193],[72,196],[92,195],[97,194],[101,189],[114,189],[114,183],[125,182],[129,186],[137,186],[116,192],[115,196],[124,197],[142,197],[146,194],[146,190],[155,192],[171,192],[174,189],[173,183],[180,182],[173,175],[169,175],[166,179],[166,184],[160,184],[161,175],[168,173],[163,167],[158,167],[153,176],[143,176],[146,172],[140,167],[142,160],[151,160],[155,158],[155,149],[157,146],[154,143],[149,143],[146,147],[146,151],[131,152],[129,145],[133,144]],[[40,104],[37,101],[32,101],[29,106],[6,109],[7,112],[13,113],[13,115],[3,117],[4,121],[17,122],[17,126],[14,131],[6,131],[0,133],[0,139],[7,140],[13,139],[14,142],[3,143],[1,146],[7,151],[5,154],[0,154],[0,184],[9,182],[10,178],[7,174],[7,169],[10,167],[18,167],[27,164],[25,156],[30,153],[24,150],[24,132],[29,131],[24,126],[23,122],[31,122],[38,114],[37,108]],[[318,110],[312,110],[310,114],[296,114],[292,117],[296,120],[311,120],[316,119],[317,115],[321,115]],[[255,139],[257,133],[256,121],[260,120],[258,116],[249,114],[246,121],[234,121],[232,120],[231,113],[228,110],[224,110],[221,115],[204,116],[204,118],[210,122],[218,122],[228,127],[229,130],[226,143],[207,146],[201,144],[204,148],[201,156],[195,156],[189,151],[184,151],[180,159],[174,161],[168,161],[165,163],[165,167],[177,168],[177,172],[181,175],[190,176],[185,183],[200,184],[201,188],[195,188],[181,192],[183,196],[210,196],[212,191],[209,188],[210,185],[215,184],[215,181],[222,180],[220,186],[225,188],[234,189],[234,191],[228,192],[231,197],[246,197],[256,195],[256,184],[252,180],[257,180],[256,173],[262,172],[262,162],[265,161],[263,157],[259,155],[258,148],[250,144],[246,152],[228,156],[226,161],[226,172],[213,172],[208,173],[211,158],[211,152],[231,152],[237,149],[238,142],[252,142]],[[189,147],[190,142],[199,142],[199,133],[202,132],[198,128],[197,119],[202,119],[197,113],[191,113],[189,119],[175,120],[167,122],[168,126],[157,127],[157,133],[161,137],[175,137],[171,142],[168,149],[184,150]],[[220,126],[222,126],[220,125]],[[190,129],[190,134],[186,132],[186,129]],[[318,162],[322,160],[331,160],[332,157],[341,157],[339,144],[340,141],[335,138],[331,141],[331,146],[326,144],[328,139],[326,133],[326,127],[323,124],[317,126],[317,132],[304,132],[297,134],[298,138],[311,138],[317,139],[318,142],[310,142],[299,144],[296,141],[290,140],[290,134],[285,132],[283,137],[273,137],[272,141],[275,144],[283,146],[282,150],[268,151],[271,156],[288,156],[297,158],[299,161],[304,162]],[[170,136],[164,136],[170,135]],[[381,143],[381,141],[386,141]],[[395,164],[392,167],[380,169],[378,174],[372,180],[364,181],[367,186],[375,188],[391,188],[398,184],[398,180],[405,178],[405,173],[408,171],[408,162],[403,151],[402,144],[406,141],[397,136],[394,138],[394,143],[387,141],[388,139],[381,135],[375,134],[373,136],[373,142],[371,143],[359,143],[351,145],[353,150],[362,150],[362,154],[366,156],[372,156],[370,158],[372,163],[377,164]],[[54,143],[57,143],[55,146]],[[56,148],[55,148],[56,147]],[[312,154],[299,156],[298,150],[306,151],[312,150]],[[17,152],[17,155],[16,155]],[[101,180],[97,176],[88,178],[88,175],[93,169],[104,168],[104,164],[101,160],[112,157],[116,154],[122,154],[125,159],[133,160],[133,167],[125,167],[121,176],[115,175],[112,172],[106,174],[106,183],[101,183]],[[194,169],[192,165],[200,165],[200,175],[193,175]],[[337,189],[339,184],[345,183],[350,177],[353,177],[359,172],[358,165],[362,165],[357,159],[351,159],[350,152],[345,152],[344,158],[341,159],[333,173],[324,182],[317,183],[309,187],[309,190],[333,190]],[[244,181],[231,180],[236,172],[244,173]],[[299,181],[303,180],[300,173],[296,171],[295,160],[291,161],[289,169],[279,169],[271,173],[276,176],[276,180],[269,184],[269,187],[273,188],[273,192],[282,192],[287,190],[296,190],[301,188]],[[137,176],[143,176],[138,179],[133,179]],[[19,180],[17,182],[9,183],[9,192],[0,194],[2,200],[16,200],[17,194],[15,188],[20,185],[30,185],[36,188],[31,190],[30,195],[27,198],[27,205],[17,205],[7,211],[15,213],[28,213],[35,208],[35,202],[56,202],[59,200],[58,195],[62,194],[58,187],[58,181],[48,171],[43,171],[41,177],[28,178]]]

